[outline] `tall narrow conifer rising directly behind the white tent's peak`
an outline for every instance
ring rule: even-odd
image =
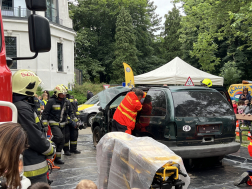
[[[165,15],[164,31],[164,59],[169,62],[175,57],[182,57],[181,43],[179,42],[179,29],[181,28],[181,15],[174,5],[172,11]]]

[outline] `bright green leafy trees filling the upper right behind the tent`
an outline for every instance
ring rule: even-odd
[[[223,71],[228,66],[236,65],[241,70],[240,78],[248,79],[252,71],[252,43],[248,32],[252,29],[252,20],[248,16],[248,13],[251,14],[251,1],[174,2],[181,2],[186,14],[182,17],[179,31],[184,60],[212,74],[221,74],[227,82],[231,80]],[[230,73],[230,69],[226,72]]]

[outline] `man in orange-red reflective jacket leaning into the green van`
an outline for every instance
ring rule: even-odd
[[[137,112],[142,109],[141,99],[146,93],[141,89],[129,92],[117,107],[112,124],[112,131],[122,131],[131,134],[135,128]]]

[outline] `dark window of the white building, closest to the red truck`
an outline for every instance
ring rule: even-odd
[[[10,58],[17,57],[17,38],[5,37],[6,56]],[[14,60],[11,69],[17,69],[17,61]]]

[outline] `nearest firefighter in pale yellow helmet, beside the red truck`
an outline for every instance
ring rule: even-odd
[[[23,154],[24,176],[28,177],[32,184],[47,183],[46,159],[51,159],[55,154],[34,105],[34,94],[40,83],[39,77],[30,70],[19,70],[12,76],[13,103],[18,110],[18,123],[26,131],[29,144]]]

